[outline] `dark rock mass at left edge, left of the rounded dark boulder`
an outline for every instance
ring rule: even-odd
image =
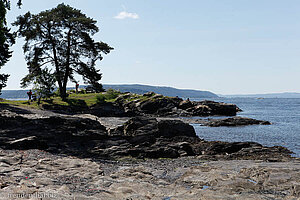
[[[5,149],[49,150],[79,154],[89,142],[107,137],[100,123],[90,119],[49,117],[28,119],[1,116],[0,146]]]

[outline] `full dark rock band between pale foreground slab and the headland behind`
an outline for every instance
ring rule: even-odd
[[[284,147],[263,147],[253,142],[209,142],[196,136],[189,124],[178,120],[133,117],[124,125],[107,130],[87,118],[59,117],[29,119],[0,116],[0,147],[41,149],[78,157],[205,159],[290,159]]]

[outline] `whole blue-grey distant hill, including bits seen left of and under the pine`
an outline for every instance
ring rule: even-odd
[[[86,86],[81,86],[80,88],[84,88]],[[172,87],[158,87],[158,86],[150,86],[150,85],[106,85],[103,84],[105,89],[115,89],[120,90],[121,92],[132,92],[137,94],[144,94],[146,92],[155,92],[158,94],[162,94],[170,97],[184,97],[184,98],[215,98],[218,97],[216,94],[208,91],[199,91],[199,90],[183,90],[176,89]],[[68,88],[74,89],[74,88]],[[24,99],[27,98],[28,90],[2,90],[2,94],[0,98],[3,99]]]

